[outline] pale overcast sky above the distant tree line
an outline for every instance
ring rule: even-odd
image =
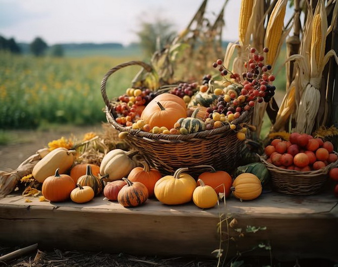
[[[137,41],[140,20],[156,16],[183,30],[202,0],[0,0],[0,35],[17,42],[39,36],[48,45],[69,42]],[[207,17],[213,22],[224,1],[208,0]],[[240,0],[230,0],[223,39],[238,39]]]

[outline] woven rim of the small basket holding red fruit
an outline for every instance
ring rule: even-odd
[[[333,151],[333,153],[338,156],[337,152]],[[320,168],[319,170],[295,171],[295,170],[288,170],[288,169],[279,168],[279,167],[267,162],[266,161],[267,156],[265,154],[263,156],[258,155],[258,157],[259,157],[260,161],[271,171],[274,171],[274,172],[279,173],[279,174],[302,176],[304,178],[312,178],[313,176],[326,175],[332,167],[335,167],[335,166],[338,165],[338,160],[336,160],[335,162],[332,162],[332,163],[328,164],[327,166]]]

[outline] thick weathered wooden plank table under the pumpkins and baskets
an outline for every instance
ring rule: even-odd
[[[27,198],[27,197],[26,197]],[[270,244],[279,259],[327,258],[338,260],[338,199],[330,193],[287,196],[265,193],[254,201],[234,197],[212,209],[192,203],[166,206],[155,199],[126,209],[98,196],[87,204],[39,202],[11,194],[0,200],[0,242],[11,245],[38,243],[41,248],[91,250],[135,255],[212,256],[219,248],[220,214],[238,225],[227,231],[222,224],[222,248],[229,255]],[[223,217],[224,218],[224,217]],[[266,227],[245,233],[247,226]],[[238,229],[242,228],[244,236]],[[237,231],[235,230],[237,229]],[[228,235],[229,233],[229,235]],[[268,255],[264,248],[253,250]]]

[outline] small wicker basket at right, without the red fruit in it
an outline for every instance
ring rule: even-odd
[[[335,153],[336,154],[336,153]],[[273,190],[292,195],[317,194],[328,180],[328,172],[338,166],[338,161],[315,171],[294,171],[279,168],[266,161],[266,156],[259,156],[270,173]]]

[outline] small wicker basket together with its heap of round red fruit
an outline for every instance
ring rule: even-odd
[[[275,191],[293,195],[318,193],[337,167],[337,153],[331,142],[293,132],[289,141],[274,139],[260,160],[270,172]]]

